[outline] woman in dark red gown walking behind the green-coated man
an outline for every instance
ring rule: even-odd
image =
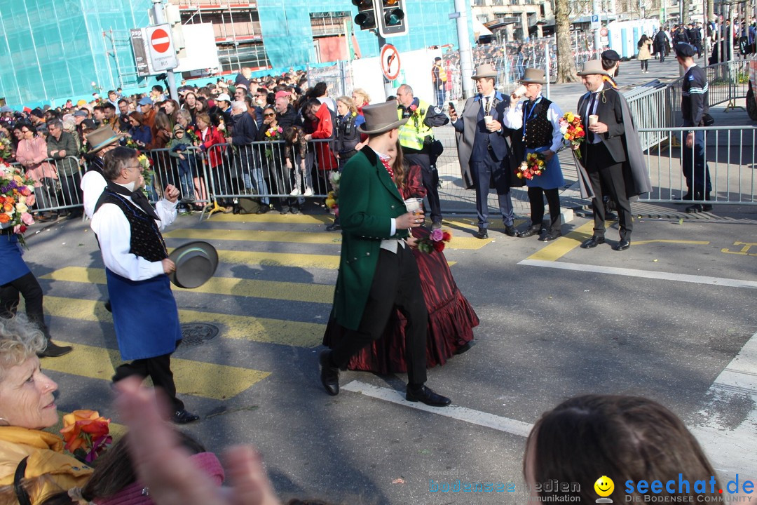
[[[398,146],[397,146],[398,147]],[[403,161],[402,150],[394,148],[387,153],[394,170],[394,182],[403,198],[422,198],[425,189],[419,166],[408,167]],[[413,229],[415,238],[428,237],[428,230]],[[462,354],[471,346],[473,328],[478,326],[478,316],[455,279],[441,251],[425,253],[413,248],[418,262],[421,288],[428,309],[426,334],[426,366],[444,365],[454,354]],[[396,310],[382,338],[363,348],[347,364],[350,370],[363,370],[381,374],[405,373],[405,318]],[[332,347],[336,339],[344,335],[344,329],[329,321],[323,344]]]

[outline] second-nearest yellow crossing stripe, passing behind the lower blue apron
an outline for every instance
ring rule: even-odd
[[[84,279],[82,280],[84,282]],[[111,313],[103,303],[94,300],[45,296],[45,312],[67,319],[112,323]],[[179,309],[182,323],[213,323],[222,328],[226,338],[266,342],[297,347],[315,347],[320,344],[326,325],[275,320],[264,317],[236,316],[233,314],[199,312]]]

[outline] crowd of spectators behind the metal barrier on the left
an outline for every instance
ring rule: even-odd
[[[80,215],[79,181],[91,147],[87,136],[106,126],[123,145],[147,154],[155,171],[148,184],[151,198],[170,182],[181,189],[185,210],[201,209],[215,195],[221,195],[217,203],[224,211],[241,210],[235,196],[257,193],[283,195],[279,210],[296,213],[304,197],[328,192],[329,171],[360,148],[360,139],[352,142],[361,123],[355,117],[362,119],[369,97],[360,89],[356,93],[359,104],[344,96],[338,108],[326,83],[309,87],[303,71],[254,78],[242,68],[235,79],[204,86],[182,82],[178,101],[155,85],[148,93],[114,89],[57,108],[4,107],[0,138],[8,145],[0,158],[23,165],[35,181],[37,208],[44,210],[36,219],[42,221]],[[292,127],[301,136],[285,136]],[[292,139],[304,142],[304,150],[285,150],[286,139],[290,145]],[[212,186],[205,180],[210,173]],[[303,174],[304,179],[297,177]],[[258,212],[273,208],[269,198],[258,203]]]

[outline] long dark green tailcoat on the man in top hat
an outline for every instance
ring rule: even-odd
[[[360,326],[381,241],[408,236],[407,229],[390,235],[391,219],[406,213],[397,185],[375,152],[366,146],[351,157],[339,183],[342,242],[332,308],[332,317],[344,328]]]

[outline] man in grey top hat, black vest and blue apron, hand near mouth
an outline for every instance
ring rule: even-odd
[[[512,151],[522,153],[522,159],[528,153],[536,152],[544,156],[546,170],[540,176],[526,179],[528,186],[528,201],[531,203],[531,226],[520,237],[530,237],[541,232],[541,222],[544,219],[544,196],[550,204],[550,228],[540,238],[544,242],[558,238],[560,232],[560,196],[559,188],[565,184],[562,178],[560,162],[555,155],[562,147],[562,133],[559,120],[562,112],[552,101],[541,95],[541,86],[547,84],[544,70],[527,68],[521,79],[525,86],[523,96],[527,101],[519,101],[519,90],[510,95],[509,106],[505,109],[503,124],[507,128],[517,130],[512,136]],[[520,88],[521,90],[523,88]]]

